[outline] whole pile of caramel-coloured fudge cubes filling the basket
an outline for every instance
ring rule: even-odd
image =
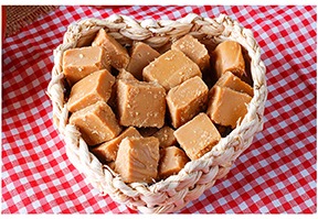
[[[63,54],[68,123],[125,183],[166,179],[244,118],[253,97],[246,63],[234,41],[211,48],[188,34],[156,50],[128,47],[100,29]]]

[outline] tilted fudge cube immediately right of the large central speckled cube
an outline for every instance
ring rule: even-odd
[[[177,129],[205,110],[208,94],[208,86],[198,76],[171,88],[166,99],[172,125]]]

